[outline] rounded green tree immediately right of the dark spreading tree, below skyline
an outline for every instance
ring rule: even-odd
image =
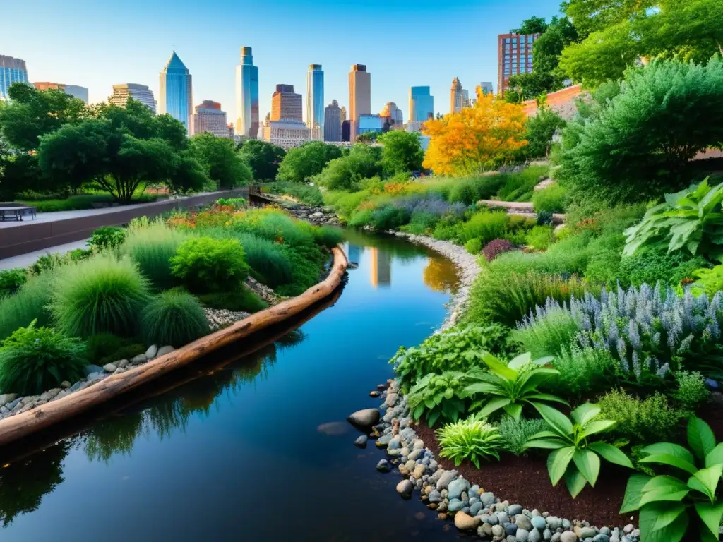
[[[231,139],[216,137],[208,132],[194,135],[191,148],[205,175],[221,189],[249,184],[253,172],[246,160],[236,152]]]

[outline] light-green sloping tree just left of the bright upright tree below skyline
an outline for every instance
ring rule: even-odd
[[[380,154],[380,147],[357,143],[348,155],[330,160],[314,181],[330,190],[359,189],[362,179],[381,173]]]

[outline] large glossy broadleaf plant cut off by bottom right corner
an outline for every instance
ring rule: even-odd
[[[636,473],[625,489],[621,514],[640,510],[641,542],[717,541],[723,502],[716,496],[723,474],[723,442],[710,426],[688,420],[690,450],[672,442],[642,449],[641,463],[664,465],[662,476]]]

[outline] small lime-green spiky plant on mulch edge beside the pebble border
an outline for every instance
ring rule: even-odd
[[[479,468],[480,459],[500,459],[497,451],[502,447],[500,432],[474,416],[437,429],[437,439],[442,448],[440,456],[453,460],[456,466],[468,460]]]

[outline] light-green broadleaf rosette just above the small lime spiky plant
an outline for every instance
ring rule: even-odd
[[[551,359],[540,358],[533,361],[528,352],[505,364],[492,354],[485,353],[482,361],[489,367],[489,371],[470,371],[469,380],[472,383],[465,388],[469,395],[482,394],[482,398],[472,404],[471,410],[484,405],[482,410],[479,410],[479,415],[484,418],[503,409],[519,420],[525,405],[537,407],[549,402],[567,405],[568,403],[557,395],[542,393],[538,389],[544,382],[560,374],[557,369],[545,367]]]

